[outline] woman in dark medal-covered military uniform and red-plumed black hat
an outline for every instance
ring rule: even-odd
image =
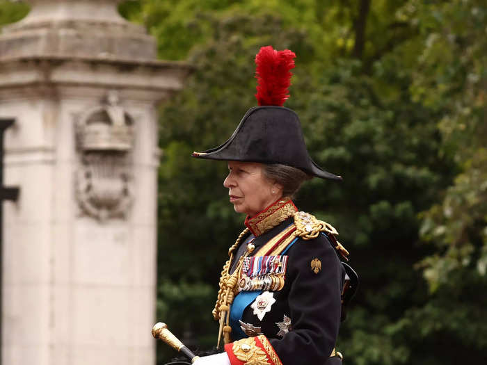
[[[340,327],[348,252],[337,232],[292,202],[303,181],[340,180],[308,155],[287,99],[295,55],[262,47],[257,54],[257,99],[227,142],[201,159],[228,161],[223,182],[230,202],[246,214],[246,229],[229,250],[214,318],[225,352],[193,364],[332,364]]]

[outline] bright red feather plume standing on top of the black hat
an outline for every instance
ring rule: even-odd
[[[296,54],[285,49],[276,51],[272,46],[262,47],[255,56],[255,78],[257,79],[257,102],[259,105],[282,106],[289,99],[291,69]]]

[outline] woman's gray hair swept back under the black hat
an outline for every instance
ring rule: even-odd
[[[304,181],[312,179],[306,172],[280,163],[264,164],[264,176],[282,185],[283,197],[294,197]]]

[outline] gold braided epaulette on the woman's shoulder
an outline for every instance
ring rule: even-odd
[[[335,245],[335,250],[340,251],[340,254],[342,254],[344,259],[349,256],[349,252],[346,248],[344,248],[335,238],[335,236],[338,236],[337,230],[327,222],[317,220],[317,218],[310,213],[296,211],[296,213],[294,213],[294,225],[296,225],[296,236],[303,238],[305,241],[317,238],[321,232],[330,234],[331,241]]]

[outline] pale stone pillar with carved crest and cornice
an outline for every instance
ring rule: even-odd
[[[0,35],[2,364],[154,364],[155,107],[189,67],[117,0],[30,3]]]

